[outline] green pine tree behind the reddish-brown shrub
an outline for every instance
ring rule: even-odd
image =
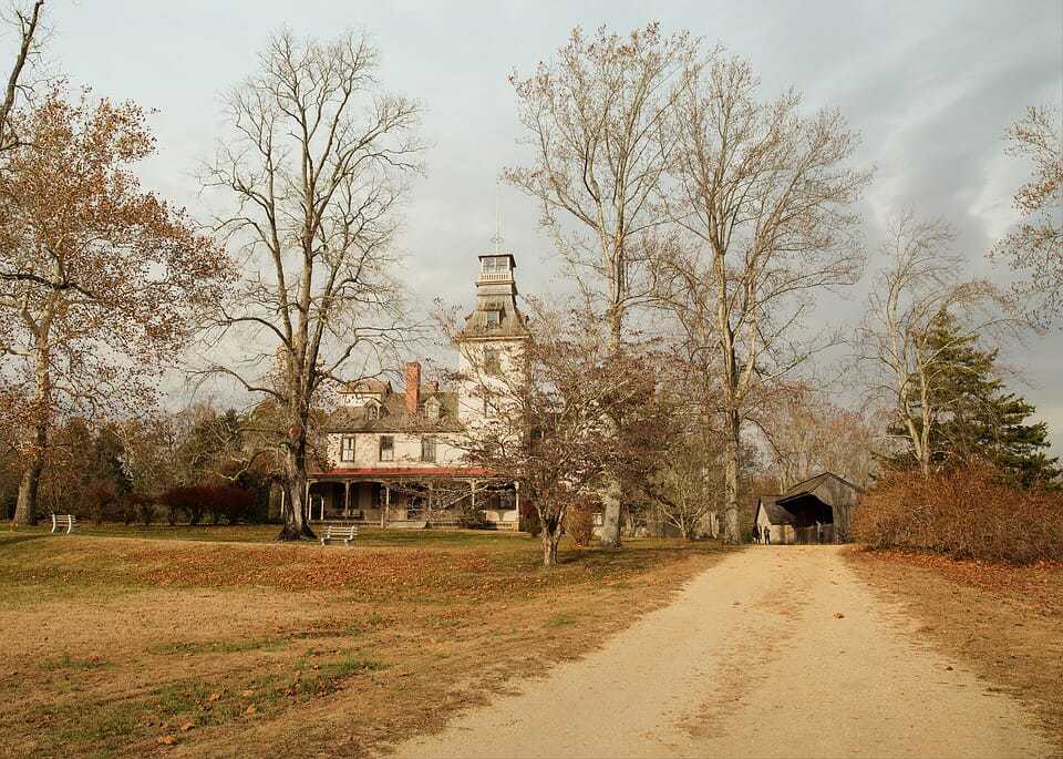
[[[1035,409],[1005,390],[995,370],[998,350],[983,349],[976,336],[962,334],[948,311],[935,318],[929,345],[937,351],[931,394],[939,416],[930,431],[935,464],[982,459],[1022,488],[1061,486],[1059,459],[1045,452],[1047,424],[1028,423]],[[886,461],[915,465],[910,452]]]

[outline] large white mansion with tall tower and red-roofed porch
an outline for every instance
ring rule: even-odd
[[[327,428],[330,468],[310,475],[312,520],[425,526],[477,514],[516,529],[519,484],[467,465],[460,448],[463,430],[491,423],[483,391],[491,375],[515,370],[512,357],[530,337],[514,268],[510,254],[479,256],[476,305],[455,340],[465,378],[457,387],[422,382],[421,365],[412,361],[402,392],[381,380],[343,391]]]

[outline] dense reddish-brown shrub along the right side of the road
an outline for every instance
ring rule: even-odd
[[[923,479],[879,480],[853,512],[853,534],[875,548],[930,551],[953,558],[1032,564],[1063,558],[1063,494],[1023,491],[972,463]]]

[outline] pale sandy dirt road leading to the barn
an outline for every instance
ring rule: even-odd
[[[916,642],[834,546],[755,546],[400,757],[1040,757],[1031,714]]]

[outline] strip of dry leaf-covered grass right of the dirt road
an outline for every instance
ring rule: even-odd
[[[1063,565],[1012,567],[894,551],[852,551],[873,588],[901,603],[931,645],[989,689],[1033,707],[1063,747]],[[1063,756],[1063,755],[1061,755]]]

